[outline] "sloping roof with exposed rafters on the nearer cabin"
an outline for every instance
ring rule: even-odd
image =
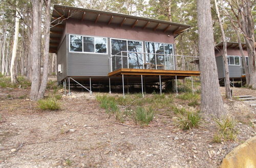
[[[70,6],[54,5],[50,29],[50,52],[57,52],[60,38],[65,28],[65,22],[69,18],[91,20],[95,23],[120,24],[152,31],[172,32],[174,37],[189,29],[190,25],[174,23],[170,21],[125,15],[113,12],[98,11],[92,9],[76,8]]]

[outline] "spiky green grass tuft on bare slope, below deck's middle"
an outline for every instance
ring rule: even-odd
[[[154,111],[150,107],[148,109],[145,109],[143,107],[138,107],[135,111],[135,122],[139,122],[141,126],[148,125],[153,120],[154,117]]]

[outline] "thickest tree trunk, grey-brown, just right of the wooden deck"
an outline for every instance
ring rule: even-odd
[[[214,51],[210,0],[197,0],[201,70],[201,111],[221,117],[225,110],[220,92]]]

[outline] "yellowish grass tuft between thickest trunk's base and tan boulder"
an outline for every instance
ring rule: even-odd
[[[216,119],[215,123],[218,128],[218,131],[214,135],[212,141],[220,143],[222,139],[224,141],[236,140],[238,131],[235,128],[237,122],[234,119],[230,117],[224,117],[222,119]],[[219,141],[217,141],[217,139],[219,139]]]

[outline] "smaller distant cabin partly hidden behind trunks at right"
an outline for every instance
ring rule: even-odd
[[[243,53],[246,58],[246,64],[249,67],[248,62],[248,53],[245,43],[242,43]],[[215,58],[218,68],[218,77],[220,83],[224,85],[225,78],[225,68],[223,60],[223,42],[215,46]],[[233,81],[246,81],[245,79],[245,70],[243,66],[242,55],[239,49],[239,43],[237,42],[227,42],[227,57],[228,57],[228,69],[229,69],[229,78],[231,85],[234,86]]]

